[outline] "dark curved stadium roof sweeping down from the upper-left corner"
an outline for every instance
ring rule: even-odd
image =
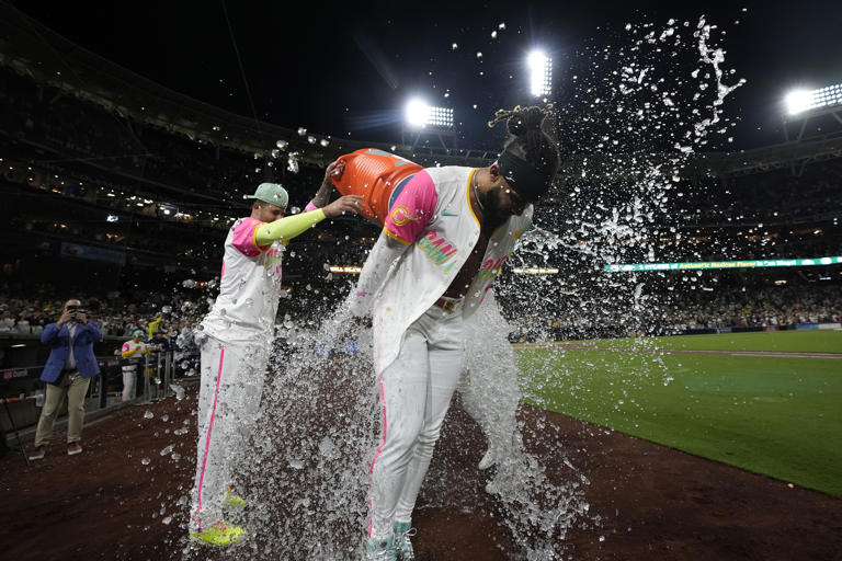
[[[298,151],[301,161],[318,165],[325,165],[338,154],[371,147],[413,157],[417,161],[446,159],[447,163],[463,164],[485,164],[497,156],[481,150],[454,153],[435,148],[333,139],[312,133],[301,135],[297,129],[237,115],[170,90],[79,47],[5,2],[0,3],[0,65],[121,117],[194,140],[261,156],[269,156],[277,140],[285,140],[288,151]],[[328,146],[311,144],[308,136],[327,139]]]

